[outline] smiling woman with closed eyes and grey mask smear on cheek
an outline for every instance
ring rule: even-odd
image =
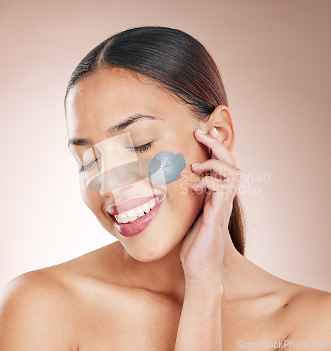
[[[330,293],[244,256],[234,119],[202,44],[166,27],[115,34],[74,70],[65,113],[83,201],[118,240],[7,284],[1,350],[331,342]]]

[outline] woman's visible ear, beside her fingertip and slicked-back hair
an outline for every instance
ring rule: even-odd
[[[236,129],[234,127],[234,117],[232,117],[229,107],[218,105],[210,114],[208,119],[209,128],[215,127],[222,144],[231,152],[236,144]]]

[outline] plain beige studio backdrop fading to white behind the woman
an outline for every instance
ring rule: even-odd
[[[114,241],[80,197],[65,88],[102,40],[164,25],[200,40],[224,79],[247,257],[331,291],[330,0],[2,1],[0,12],[1,286]]]

